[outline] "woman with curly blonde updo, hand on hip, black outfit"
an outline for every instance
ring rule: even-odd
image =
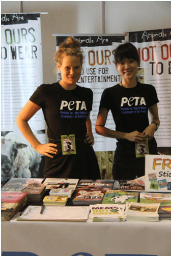
[[[38,87],[16,119],[24,137],[37,152],[45,155],[44,178],[100,179],[92,147],[93,92],[76,84],[81,75],[82,59],[79,43],[68,37],[55,54],[62,80]],[[44,145],[28,124],[40,108],[49,138],[49,143]]]

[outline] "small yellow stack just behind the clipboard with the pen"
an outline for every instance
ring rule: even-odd
[[[59,206],[65,206],[66,203],[67,203],[67,200],[68,200],[68,196],[50,196],[50,195],[47,195],[44,197],[43,199],[43,203],[45,206],[56,206],[56,205],[59,205]]]

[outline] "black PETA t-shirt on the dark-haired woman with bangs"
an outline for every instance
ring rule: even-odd
[[[104,90],[100,108],[111,110],[116,131],[143,132],[149,126],[148,108],[159,100],[151,84],[137,83],[134,88],[117,84]]]

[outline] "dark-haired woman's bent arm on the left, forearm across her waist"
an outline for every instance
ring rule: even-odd
[[[133,131],[130,133],[113,131],[105,127],[106,120],[108,115],[107,108],[101,108],[99,110],[97,121],[96,121],[96,132],[99,135],[109,137],[109,138],[117,138],[117,139],[127,139],[129,141],[142,141],[144,139],[144,135],[138,131]]]

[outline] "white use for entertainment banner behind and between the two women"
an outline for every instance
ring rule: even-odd
[[[56,36],[56,50],[67,36]],[[95,131],[96,119],[102,92],[105,88],[112,87],[121,81],[114,62],[114,52],[119,44],[124,42],[124,35],[72,35],[79,41],[83,50],[84,60],[82,73],[77,84],[93,91],[93,110],[91,111],[92,130],[95,138],[93,146],[95,151],[114,151],[116,139],[100,136]],[[58,77],[60,80],[60,77]],[[111,112],[108,114],[106,127],[115,130]]]

